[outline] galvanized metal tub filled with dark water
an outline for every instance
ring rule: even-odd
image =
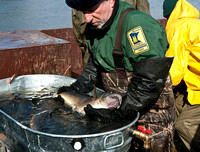
[[[0,80],[0,94],[14,93],[21,89],[32,91],[47,87],[57,89],[75,81],[70,77],[47,74],[18,76],[11,84],[8,84],[8,80],[9,78]],[[103,92],[100,89],[97,91],[99,94]],[[0,110],[0,140],[3,148],[14,152],[122,152],[130,148],[132,130],[138,119],[139,113],[128,125],[97,134],[57,135],[28,128]]]

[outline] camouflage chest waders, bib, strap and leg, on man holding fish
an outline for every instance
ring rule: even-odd
[[[130,11],[133,11],[133,9],[126,9],[119,20],[115,48],[113,49],[116,70],[112,72],[101,72],[105,90],[108,92],[118,92],[122,95],[127,92],[128,85],[132,78],[132,72],[124,68],[123,53],[121,51],[123,19]],[[156,103],[147,106],[147,108],[141,112],[142,115],[138,120],[138,126],[143,126],[152,131],[149,137],[151,141],[150,150],[153,152],[172,151],[175,121],[174,101],[171,78],[168,76],[165,87]],[[138,143],[142,143],[141,140],[134,138],[131,151],[138,148]],[[141,145],[139,144],[139,148],[142,146],[143,143]]]

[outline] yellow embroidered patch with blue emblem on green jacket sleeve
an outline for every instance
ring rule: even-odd
[[[149,50],[144,32],[140,26],[127,33],[134,54],[140,54]]]

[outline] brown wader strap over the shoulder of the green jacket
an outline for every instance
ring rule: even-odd
[[[113,49],[113,59],[115,63],[116,70],[119,69],[124,70],[124,55],[121,51],[121,41],[122,41],[122,24],[126,15],[130,12],[135,10],[134,8],[127,8],[124,10],[120,16],[117,35],[115,40],[115,47]]]

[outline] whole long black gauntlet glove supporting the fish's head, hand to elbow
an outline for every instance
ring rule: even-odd
[[[157,101],[164,88],[173,58],[149,58],[133,63],[133,78],[118,109],[84,108],[90,118],[97,121],[133,120],[137,111],[145,112],[147,105]]]

